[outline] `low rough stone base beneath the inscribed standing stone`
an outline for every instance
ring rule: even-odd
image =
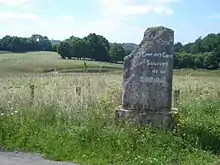
[[[120,109],[115,111],[115,120],[120,122],[131,122],[137,125],[151,125],[159,128],[171,128],[173,117],[167,112],[139,112],[135,110]]]

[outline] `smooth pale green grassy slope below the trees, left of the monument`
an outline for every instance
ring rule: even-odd
[[[89,71],[121,70],[119,64],[87,61]],[[83,60],[61,60],[55,52],[0,53],[0,74],[21,72],[49,72],[57,69],[61,72],[82,71]]]

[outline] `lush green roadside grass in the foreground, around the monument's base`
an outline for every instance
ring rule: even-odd
[[[180,132],[172,134],[148,127],[122,125],[116,128],[109,101],[107,98],[90,104],[87,112],[79,107],[68,113],[60,112],[56,105],[19,107],[20,113],[1,117],[0,144],[6,149],[40,152],[49,159],[94,165],[169,165],[173,162],[206,165],[217,159],[218,102],[183,106],[186,111],[182,119],[186,122]],[[82,114],[76,115],[76,112]],[[216,120],[210,121],[213,118]]]

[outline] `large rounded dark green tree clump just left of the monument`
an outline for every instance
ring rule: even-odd
[[[63,59],[87,58],[96,61],[118,62],[123,61],[124,57],[132,50],[125,50],[122,44],[109,43],[102,35],[90,33],[84,38],[71,36],[54,45],[54,51]]]

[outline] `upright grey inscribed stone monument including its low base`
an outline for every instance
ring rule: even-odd
[[[116,119],[167,127],[172,117],[174,31],[151,27],[124,58],[122,109]]]

